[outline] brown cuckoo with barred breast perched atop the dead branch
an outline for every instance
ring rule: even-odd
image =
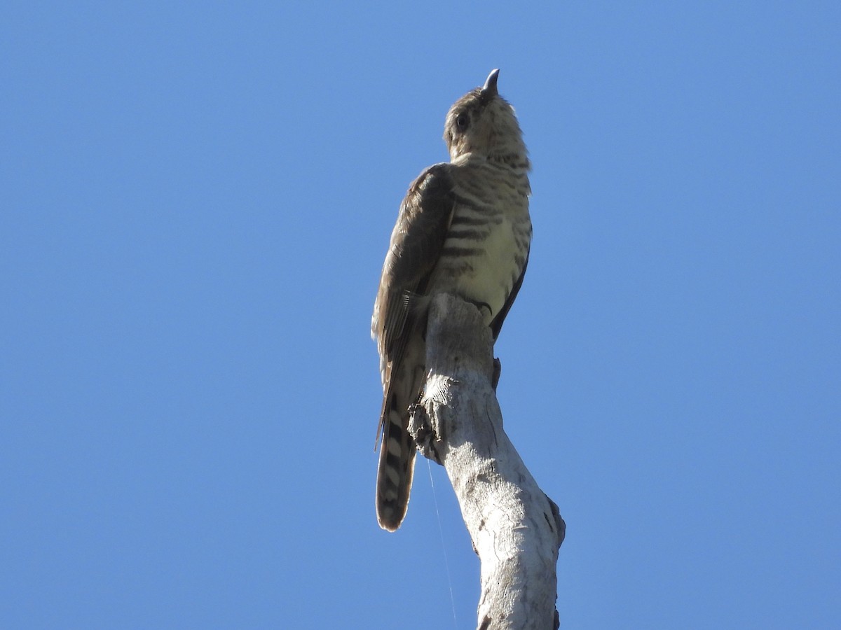
[[[383,263],[371,334],[383,381],[377,520],[390,532],[409,504],[416,449],[408,428],[426,380],[431,298],[449,293],[473,303],[496,339],[526,273],[531,162],[499,74],[491,71],[447,112],[450,161],[410,185]]]

